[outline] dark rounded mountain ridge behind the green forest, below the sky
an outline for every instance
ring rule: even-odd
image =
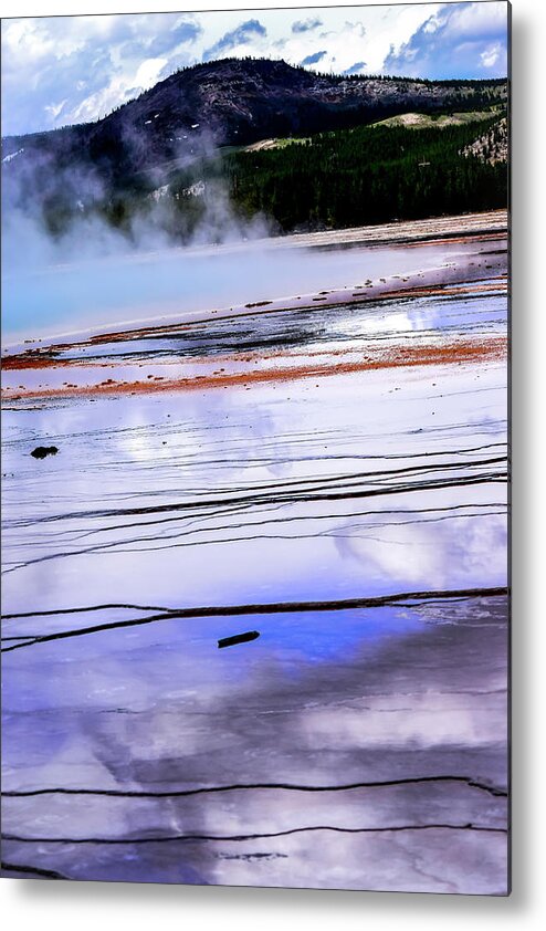
[[[157,188],[218,147],[347,128],[397,114],[480,109],[506,82],[317,75],[224,59],[176,72],[94,123],[2,139],[8,206]]]

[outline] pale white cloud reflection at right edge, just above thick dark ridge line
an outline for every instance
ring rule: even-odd
[[[492,509],[493,510],[493,509]],[[456,588],[506,584],[506,516],[476,514],[420,522],[420,512],[402,511],[395,526],[370,519],[366,527],[340,529],[336,546],[364,571],[388,578],[396,588]],[[413,522],[412,522],[413,521]],[[377,525],[375,525],[377,524]],[[334,534],[334,536],[336,536]]]

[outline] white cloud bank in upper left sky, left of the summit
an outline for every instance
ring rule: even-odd
[[[164,69],[196,61],[200,33],[179,13],[3,21],[2,133],[104,116]]]

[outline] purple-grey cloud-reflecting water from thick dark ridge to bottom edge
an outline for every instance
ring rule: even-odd
[[[432,605],[426,625],[420,608],[407,607],[400,611],[408,618],[406,630],[391,609],[351,613],[355,630],[359,621],[363,634],[371,615],[371,626],[378,634],[382,630],[379,644],[363,636],[349,653],[333,655],[318,667],[302,656],[297,678],[283,661],[283,655],[291,656],[286,636],[276,642],[265,637],[260,658],[250,650],[207,655],[206,644],[217,631],[207,628],[201,638],[188,642],[177,636],[175,624],[155,631],[144,628],[134,636],[108,634],[102,644],[90,640],[85,651],[70,642],[45,648],[50,661],[44,666],[42,659],[42,671],[56,683],[57,698],[52,692],[49,708],[33,715],[19,759],[13,759],[8,732],[7,752],[14,764],[10,783],[21,786],[31,776],[27,785],[122,792],[271,782],[305,787],[396,781],[397,775],[419,780],[438,772],[471,777],[477,766],[479,783],[502,788],[505,603],[454,602],[449,610],[450,625],[437,627]],[[309,624],[302,630],[302,644],[312,644],[313,623],[322,624],[321,618],[287,620],[296,627]],[[326,618],[332,642],[343,626],[335,616]],[[61,670],[70,667],[73,676],[63,681]],[[98,679],[90,694],[91,679],[82,672],[88,669],[93,679],[103,668],[106,687]],[[118,686],[115,700],[108,679]],[[13,739],[20,738],[20,728],[21,723]],[[60,732],[61,746],[55,740]],[[361,888],[363,877],[366,885],[375,877],[378,888],[403,881],[412,888],[413,855],[421,861],[435,851],[437,872],[432,870],[423,889],[445,891],[454,883],[461,891],[494,891],[502,888],[502,834],[485,845],[480,835],[452,831],[439,833],[437,840],[428,833],[396,839],[303,833],[248,841],[174,843],[157,851],[148,845],[135,847],[130,838],[275,834],[313,825],[354,829],[472,822],[502,828],[503,812],[502,797],[463,778],[318,794],[255,788],[181,798],[38,796],[7,802],[3,824],[8,833],[32,836],[129,838],[126,847],[111,852],[84,845],[75,860],[73,851],[70,859],[70,846],[39,845],[36,850],[25,845],[33,862],[44,856],[44,866],[76,876],[99,876],[101,862],[112,858],[105,877],[111,879],[157,876],[180,881],[183,870],[186,877],[208,882]],[[399,859],[393,866],[395,851]],[[271,859],[262,862],[251,856],[256,852]],[[280,855],[288,857],[286,864]]]

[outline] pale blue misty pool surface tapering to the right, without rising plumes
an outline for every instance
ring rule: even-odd
[[[461,245],[349,249],[316,254],[266,247],[218,254],[166,250],[153,255],[80,262],[2,280],[4,341],[125,320],[182,314],[353,286],[368,278],[441,265]]]

